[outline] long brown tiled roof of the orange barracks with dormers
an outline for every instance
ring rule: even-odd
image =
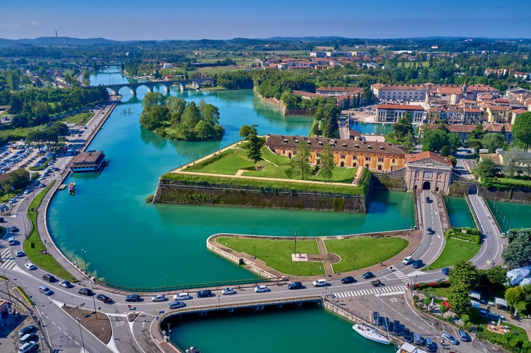
[[[297,141],[297,142],[295,142]],[[298,143],[307,143],[312,150],[322,150],[326,145],[330,145],[334,151],[359,151],[366,153],[406,155],[406,151],[396,145],[387,142],[363,141],[363,140],[344,140],[341,138],[323,138],[308,136],[281,136],[269,135],[265,145],[274,148],[293,148]]]

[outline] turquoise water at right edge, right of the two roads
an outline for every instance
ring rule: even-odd
[[[528,203],[513,203],[504,201],[487,200],[489,207],[494,213],[502,232],[510,228],[531,227],[531,205]]]

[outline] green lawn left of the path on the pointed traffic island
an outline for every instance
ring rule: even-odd
[[[291,254],[295,244],[293,239],[271,240],[254,238],[220,237],[216,239],[219,244],[225,245],[234,251],[241,251],[250,256],[256,256],[264,261],[270,268],[294,276],[324,275],[325,268],[322,262],[291,261]],[[297,252],[318,254],[317,241],[297,241]]]

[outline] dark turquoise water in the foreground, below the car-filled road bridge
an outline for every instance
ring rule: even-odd
[[[358,335],[352,324],[316,304],[266,307],[182,316],[170,325],[178,347],[196,346],[202,353],[396,352]]]

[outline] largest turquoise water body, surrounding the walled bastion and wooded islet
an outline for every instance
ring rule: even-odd
[[[107,69],[109,70],[109,69]],[[106,78],[107,77],[107,78]],[[95,84],[124,78],[98,73]],[[95,137],[90,149],[103,150],[110,164],[103,172],[71,174],[76,195],[59,191],[47,217],[56,244],[71,260],[96,277],[125,287],[166,287],[250,279],[254,275],[206,250],[218,232],[291,236],[353,234],[413,225],[410,193],[378,193],[368,214],[258,210],[189,205],[153,205],[146,197],[158,177],[239,140],[240,126],[257,124],[259,133],[306,135],[311,118],[285,117],[269,110],[252,90],[175,92],[187,100],[219,107],[226,134],[221,141],[192,143],[156,136],[139,125],[141,98],[122,89],[122,101]],[[75,253],[74,253],[75,252]],[[182,270],[186,268],[187,270]]]

